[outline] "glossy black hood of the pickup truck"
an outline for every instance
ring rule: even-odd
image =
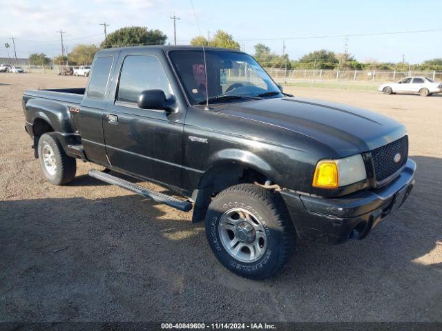
[[[305,135],[340,157],[373,150],[406,134],[401,123],[381,114],[298,97],[229,103],[218,111]]]

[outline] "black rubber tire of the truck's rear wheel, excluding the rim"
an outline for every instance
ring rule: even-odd
[[[43,150],[44,146],[50,146],[54,152],[57,168],[54,174],[50,174],[44,164]],[[43,175],[50,183],[54,185],[64,185],[70,183],[75,178],[77,172],[77,163],[74,157],[68,157],[61,143],[54,132],[42,134],[38,144],[39,161]]]

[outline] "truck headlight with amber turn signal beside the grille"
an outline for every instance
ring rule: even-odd
[[[316,188],[339,188],[367,178],[361,154],[316,164],[313,185]]]

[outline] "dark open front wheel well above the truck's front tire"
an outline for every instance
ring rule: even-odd
[[[240,183],[261,183],[269,180],[265,174],[251,168],[249,165],[228,162],[213,166],[207,170],[198,189],[193,191],[193,222],[204,221],[206,210],[209,207],[211,198],[222,190]]]

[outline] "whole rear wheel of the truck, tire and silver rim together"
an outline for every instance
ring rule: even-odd
[[[39,160],[44,177],[54,185],[73,181],[77,171],[75,158],[68,157],[54,132],[45,133],[39,139]]]

